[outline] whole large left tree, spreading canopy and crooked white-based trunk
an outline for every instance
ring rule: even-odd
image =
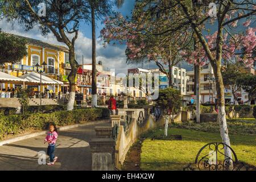
[[[40,3],[44,3],[46,15],[39,16],[39,10],[44,9],[38,7]],[[75,101],[75,77],[79,67],[75,60],[75,42],[79,34],[80,22],[89,19],[88,1],[1,0],[0,7],[2,18],[10,22],[17,21],[26,31],[39,26],[42,35],[52,32],[58,42],[67,45],[71,64],[71,72],[68,75],[70,97],[67,109],[72,110]]]

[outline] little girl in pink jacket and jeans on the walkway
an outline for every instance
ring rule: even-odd
[[[44,140],[44,143],[48,142],[47,155],[49,155],[50,158],[50,162],[47,163],[47,165],[53,165],[57,160],[57,156],[54,155],[57,137],[57,128],[54,123],[50,123],[49,132],[47,133],[46,139]]]

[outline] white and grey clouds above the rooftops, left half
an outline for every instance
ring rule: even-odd
[[[42,40],[50,44],[56,44],[59,46],[65,46],[65,44],[57,42],[55,36],[50,33],[47,36],[42,36],[38,28],[34,28],[30,31],[24,31],[23,27],[20,27],[18,23],[7,23],[5,20],[0,21],[0,27],[2,31],[10,32],[20,36],[26,36],[28,38]],[[72,35],[71,35],[72,36]],[[82,63],[82,55],[84,55],[84,63],[92,63],[92,39],[87,38],[83,32],[79,32],[79,36],[75,43],[76,60],[78,63]],[[136,65],[127,65],[124,46],[102,46],[102,41],[97,39],[96,41],[96,61],[102,61],[104,67],[108,69],[115,69],[116,73],[127,73],[127,69],[136,67]]]

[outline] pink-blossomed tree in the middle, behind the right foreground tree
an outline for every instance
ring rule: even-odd
[[[136,3],[131,18],[124,18],[121,14],[107,17],[101,37],[105,40],[105,45],[112,41],[113,44],[115,41],[126,43],[128,64],[154,61],[160,72],[168,77],[169,86],[172,86],[172,67],[182,60],[180,51],[191,48],[193,34],[188,34],[187,31],[151,34],[152,30],[158,30],[163,24],[166,27],[171,24],[172,19],[167,19],[171,12],[167,9],[167,1],[149,8],[141,8],[142,5],[140,2]],[[145,19],[148,21],[144,21]],[[164,68],[165,65],[168,69]]]

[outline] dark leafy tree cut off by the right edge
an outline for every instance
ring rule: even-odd
[[[248,93],[248,103],[256,97],[256,75],[247,74],[237,79],[237,85]]]

